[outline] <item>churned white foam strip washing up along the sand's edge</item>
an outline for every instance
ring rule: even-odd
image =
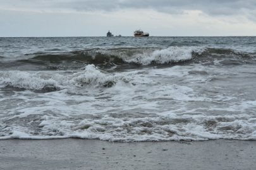
[[[161,116],[145,118],[86,119],[80,122],[47,118],[40,123],[41,135],[13,130],[0,139],[61,139],[79,137],[119,142],[163,140],[254,139],[255,120],[248,115]],[[253,121],[248,122],[247,119]],[[183,122],[183,124],[182,124]],[[20,128],[21,130],[22,128]],[[27,131],[29,132],[29,131]]]

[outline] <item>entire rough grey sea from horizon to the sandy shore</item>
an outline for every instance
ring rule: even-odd
[[[0,139],[256,140],[256,37],[2,37]]]

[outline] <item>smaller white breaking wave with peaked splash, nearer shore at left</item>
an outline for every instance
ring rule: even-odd
[[[84,71],[76,72],[70,75],[62,75],[49,72],[21,72],[6,71],[0,72],[0,84],[23,89],[65,89],[71,87],[83,88],[83,86],[111,87],[118,81],[128,82],[130,76],[121,74],[108,74],[95,68],[95,65],[87,65]]]

